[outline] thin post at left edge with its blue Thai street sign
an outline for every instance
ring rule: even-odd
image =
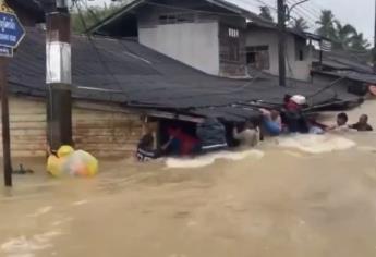
[[[8,62],[25,36],[17,16],[3,2],[0,5],[0,87],[4,185],[12,186],[11,136],[8,103]]]

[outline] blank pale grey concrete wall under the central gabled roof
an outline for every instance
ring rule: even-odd
[[[218,22],[138,27],[138,40],[205,73],[219,74]]]

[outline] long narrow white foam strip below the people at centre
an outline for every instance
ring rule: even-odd
[[[260,150],[246,150],[246,151],[218,151],[204,156],[197,156],[195,158],[182,159],[182,158],[167,158],[166,166],[168,168],[178,169],[195,169],[213,164],[218,159],[226,160],[243,160],[246,158],[262,159],[264,152]]]

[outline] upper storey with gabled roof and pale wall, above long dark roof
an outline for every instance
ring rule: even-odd
[[[138,42],[210,75],[246,77],[246,16],[222,0],[136,0],[89,30]],[[243,15],[244,14],[244,15]]]

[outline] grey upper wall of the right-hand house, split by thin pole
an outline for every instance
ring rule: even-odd
[[[266,72],[278,75],[278,34],[268,29],[252,29],[246,35],[246,47],[269,46],[269,70]],[[312,57],[308,48],[304,48],[304,60],[296,60],[295,37],[289,35],[287,37],[287,76],[301,81],[310,81],[310,72],[312,65]]]

